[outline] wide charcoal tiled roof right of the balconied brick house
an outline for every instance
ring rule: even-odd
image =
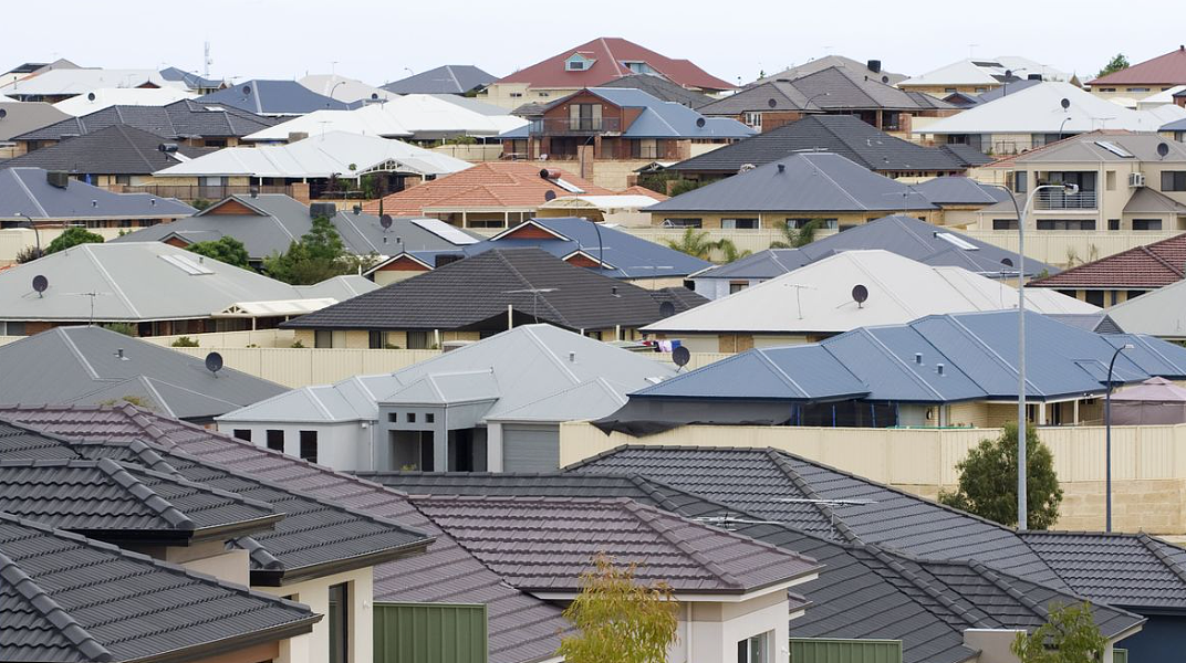
[[[839,154],[871,170],[963,172],[968,163],[938,148],[923,147],[881,131],[854,115],[809,115],[777,129],[669,166],[681,173],[737,173],[795,152]],[[989,159],[983,156],[982,162]]]

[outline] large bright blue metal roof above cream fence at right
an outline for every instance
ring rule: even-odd
[[[820,343],[753,349],[631,398],[733,398],[899,403],[1010,400],[1018,393],[1015,311],[935,315],[869,327]],[[1186,348],[1134,334],[1096,334],[1026,314],[1027,398],[1102,393],[1108,362],[1123,343],[1112,381],[1186,378]],[[916,355],[922,355],[920,361]],[[938,365],[943,365],[943,373]]]

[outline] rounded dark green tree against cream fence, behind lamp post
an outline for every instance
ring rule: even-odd
[[[982,439],[956,464],[959,483],[954,493],[939,491],[939,502],[1014,527],[1018,523],[1018,425],[1009,423],[996,439]],[[1054,457],[1026,426],[1026,514],[1029,529],[1048,529],[1058,521],[1063,489]]]

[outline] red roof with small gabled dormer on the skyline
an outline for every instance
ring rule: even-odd
[[[567,71],[565,60],[580,53],[594,60],[582,71]],[[737,85],[700,69],[691,60],[675,60],[620,37],[601,37],[538,64],[521,69],[495,83],[527,83],[533,88],[595,88],[632,73],[625,62],[643,62],[672,83],[701,90],[735,90]]]

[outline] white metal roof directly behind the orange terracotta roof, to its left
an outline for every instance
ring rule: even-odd
[[[402,141],[332,131],[282,146],[229,147],[155,174],[161,178],[355,178],[377,170],[445,175],[468,167],[470,163],[460,159]]]

